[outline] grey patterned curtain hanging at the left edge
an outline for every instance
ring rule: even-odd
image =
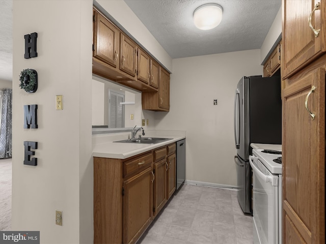
[[[2,95],[0,125],[0,159],[12,156],[12,89],[5,89]]]

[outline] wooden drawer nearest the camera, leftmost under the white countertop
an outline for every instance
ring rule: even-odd
[[[131,175],[152,163],[152,153],[123,162],[123,177]]]

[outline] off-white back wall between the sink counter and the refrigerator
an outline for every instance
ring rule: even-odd
[[[186,131],[186,180],[236,186],[235,88],[261,74],[259,49],[173,59],[170,112],[155,113],[155,129]]]

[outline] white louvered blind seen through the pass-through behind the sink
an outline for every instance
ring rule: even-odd
[[[109,127],[111,128],[124,128],[124,95],[112,92],[110,90],[110,102],[109,102]]]

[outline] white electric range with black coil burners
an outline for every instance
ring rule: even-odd
[[[254,244],[282,244],[282,151],[253,149]]]

